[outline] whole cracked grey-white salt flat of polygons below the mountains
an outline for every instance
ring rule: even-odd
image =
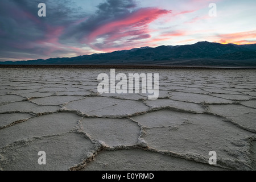
[[[0,68],[0,169],[256,169],[255,70],[115,70],[159,73],[157,100],[99,94],[109,72]]]

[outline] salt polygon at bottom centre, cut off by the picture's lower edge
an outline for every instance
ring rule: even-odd
[[[102,151],[83,171],[224,171],[224,168],[196,163],[144,150]]]

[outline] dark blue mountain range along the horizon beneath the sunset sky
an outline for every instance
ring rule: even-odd
[[[256,67],[256,44],[197,42],[183,46],[142,47],[110,53],[47,60],[5,61],[14,65],[175,65]]]

